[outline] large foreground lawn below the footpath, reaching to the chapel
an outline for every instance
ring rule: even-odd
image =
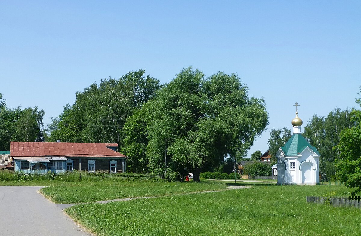
[[[66,209],[101,236],[361,235],[361,210],[306,203],[343,186],[256,186],[224,192],[76,205]]]

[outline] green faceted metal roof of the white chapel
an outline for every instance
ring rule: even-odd
[[[298,156],[306,147],[312,149],[318,156],[321,156],[317,149],[313,147],[302,135],[293,134],[290,140],[281,147],[286,156]]]

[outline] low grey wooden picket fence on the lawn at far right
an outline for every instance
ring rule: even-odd
[[[331,206],[361,208],[361,196],[355,196],[355,197],[306,196],[306,202],[314,202],[319,204],[326,204],[326,202],[328,202]]]

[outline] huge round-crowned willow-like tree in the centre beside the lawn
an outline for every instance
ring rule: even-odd
[[[268,123],[262,99],[248,97],[237,75],[205,78],[188,67],[144,105],[151,171],[176,179],[214,168],[224,156],[246,153]],[[167,161],[167,166],[165,166]]]

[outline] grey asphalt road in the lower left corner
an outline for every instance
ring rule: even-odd
[[[42,187],[0,186],[0,236],[91,236],[53,204]]]

